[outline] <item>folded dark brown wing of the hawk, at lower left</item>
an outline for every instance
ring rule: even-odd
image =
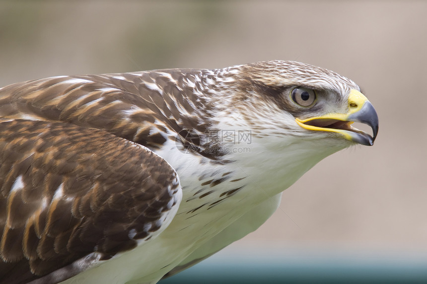
[[[0,283],[135,247],[159,229],[178,185],[162,158],[105,131],[3,119]]]

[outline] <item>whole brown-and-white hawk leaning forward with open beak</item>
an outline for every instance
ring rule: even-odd
[[[257,229],[304,172],[377,132],[353,81],[293,61],[3,87],[0,283],[156,283]]]

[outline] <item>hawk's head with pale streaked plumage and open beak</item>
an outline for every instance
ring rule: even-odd
[[[378,133],[378,116],[360,88],[330,70],[266,61],[221,69],[217,77],[223,94],[218,120],[224,129],[247,127],[254,138],[282,137],[286,145],[311,141],[337,150],[372,145]],[[372,133],[353,127],[354,122],[369,125]]]

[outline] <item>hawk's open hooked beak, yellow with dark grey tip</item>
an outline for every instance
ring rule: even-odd
[[[345,139],[367,146],[372,146],[378,133],[378,115],[372,104],[357,90],[349,95],[349,112],[347,114],[325,114],[306,119],[295,118],[296,123],[308,130],[329,131],[341,134]],[[360,122],[372,128],[372,136],[351,124]]]

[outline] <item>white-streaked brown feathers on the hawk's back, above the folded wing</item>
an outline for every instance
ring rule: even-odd
[[[165,127],[178,133],[185,124],[205,131],[193,114],[201,99],[180,79],[184,75],[172,72],[177,76],[172,80],[161,74],[53,77],[6,86],[0,90],[0,116],[103,129],[149,148],[166,141]]]

